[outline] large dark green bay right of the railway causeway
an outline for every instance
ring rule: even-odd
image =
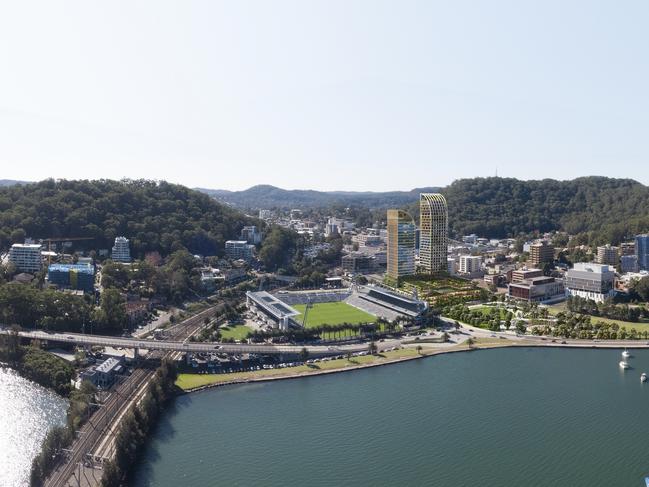
[[[179,398],[133,486],[644,486],[649,351],[497,349]]]

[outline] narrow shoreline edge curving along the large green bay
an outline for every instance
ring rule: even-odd
[[[473,348],[468,348],[467,346],[462,346],[464,343],[459,343],[457,344],[456,347],[449,347],[448,349],[440,349],[440,350],[432,350],[429,352],[422,351],[421,354],[419,355],[414,355],[411,357],[399,357],[399,358],[394,358],[394,359],[389,359],[377,363],[368,363],[368,364],[357,364],[357,365],[351,365],[348,367],[340,367],[336,369],[329,369],[329,370],[313,370],[313,371],[307,371],[307,372],[297,372],[293,374],[286,374],[286,375],[277,375],[277,376],[268,376],[268,377],[250,377],[250,378],[241,378],[241,379],[232,379],[232,380],[226,380],[223,382],[215,382],[213,384],[205,384],[189,389],[182,389],[180,387],[177,387],[179,392],[178,395],[182,396],[185,394],[194,394],[197,392],[205,391],[208,389],[214,389],[216,387],[225,387],[225,386],[231,386],[231,385],[238,385],[238,384],[252,384],[252,383],[257,383],[257,382],[272,382],[272,381],[279,381],[279,380],[296,380],[296,379],[303,379],[306,377],[314,377],[314,376],[321,376],[321,375],[329,375],[329,374],[341,374],[344,372],[353,372],[356,370],[362,370],[362,369],[368,369],[368,368],[373,368],[373,367],[382,367],[385,365],[394,365],[394,364],[399,364],[402,362],[409,362],[411,360],[419,360],[419,359],[424,359],[428,357],[434,357],[436,355],[443,355],[443,354],[448,354],[448,353],[461,353],[461,352],[474,352],[474,351],[480,351],[480,350],[491,350],[495,348],[509,348],[509,347],[533,347],[533,348],[568,348],[568,349],[623,349],[623,348],[630,348],[630,349],[649,349],[649,345],[646,344],[638,344],[636,346],[628,346],[628,345],[615,345],[615,344],[598,344],[598,343],[583,343],[583,344],[577,344],[577,343],[567,343],[567,344],[561,344],[561,343],[539,343],[539,342],[531,342],[531,343],[521,343],[521,342],[512,342],[512,341],[504,341],[503,343],[485,343],[485,344],[480,344],[478,343],[477,346],[474,346]],[[378,354],[381,355],[381,354]],[[252,374],[253,372],[251,372]],[[196,374],[199,375],[199,374]],[[209,375],[209,374],[208,374]],[[214,374],[218,375],[218,374]]]

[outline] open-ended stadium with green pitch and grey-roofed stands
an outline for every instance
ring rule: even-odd
[[[287,330],[343,323],[373,323],[416,318],[427,303],[379,286],[354,286],[336,291],[247,292],[248,309],[265,323]]]

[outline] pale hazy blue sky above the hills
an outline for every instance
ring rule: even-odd
[[[649,2],[0,0],[0,179],[649,184]]]

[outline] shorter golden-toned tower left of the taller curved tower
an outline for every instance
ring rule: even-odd
[[[399,279],[415,273],[413,218],[403,210],[388,210],[388,276]]]

